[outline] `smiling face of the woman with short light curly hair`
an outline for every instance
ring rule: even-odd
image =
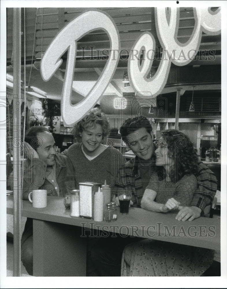
[[[100,124],[96,124],[94,127],[86,128],[81,133],[81,141],[85,153],[94,152],[101,144],[103,140],[103,129]]]

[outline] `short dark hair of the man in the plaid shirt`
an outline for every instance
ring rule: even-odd
[[[126,141],[128,134],[136,131],[137,129],[145,128],[148,134],[152,132],[150,121],[145,116],[129,117],[124,121],[120,127],[120,134],[122,140]]]

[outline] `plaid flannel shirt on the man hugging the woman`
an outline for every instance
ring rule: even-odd
[[[150,165],[150,174],[155,169],[154,164],[155,161],[153,161],[153,165]],[[202,216],[204,208],[210,205],[214,199],[217,191],[217,179],[215,174],[202,162],[198,163],[198,174],[196,177],[198,187],[194,193],[191,206],[200,208]],[[113,188],[113,194],[116,194],[118,190],[129,187],[133,189],[133,206],[140,207],[144,192],[137,158],[129,160],[124,167],[120,168],[118,183]]]

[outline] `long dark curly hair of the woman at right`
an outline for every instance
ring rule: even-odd
[[[156,147],[168,147],[168,155],[173,158],[174,164],[170,168],[170,179],[174,182],[184,175],[197,175],[197,149],[189,137],[176,129],[167,129],[161,132],[155,142]],[[164,171],[158,168],[158,175],[163,179]]]

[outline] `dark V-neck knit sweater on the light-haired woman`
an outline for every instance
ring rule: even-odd
[[[123,161],[120,151],[107,148],[93,160],[88,160],[81,146],[79,143],[72,144],[62,152],[69,157],[74,166],[77,184],[85,181],[104,184],[105,180],[108,185],[114,184],[118,168]]]

